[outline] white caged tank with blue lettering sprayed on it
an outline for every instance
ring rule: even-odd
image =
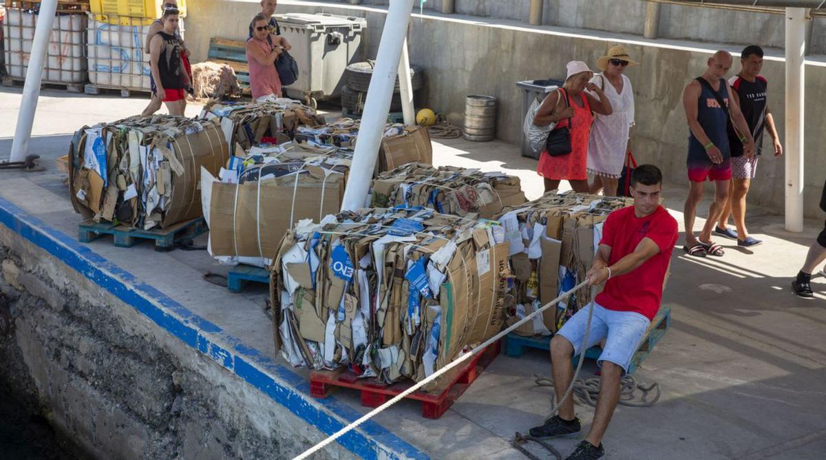
[[[144,53],[150,26],[117,26],[89,19],[89,82],[102,87],[150,89],[150,60]]]

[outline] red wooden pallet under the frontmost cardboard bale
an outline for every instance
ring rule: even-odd
[[[425,419],[438,419],[450,409],[453,402],[468,390],[479,374],[487,368],[499,354],[501,343],[495,342],[482,353],[477,354],[459,368],[454,368],[439,379],[430,391],[414,391],[405,396],[407,399],[421,401],[421,416]],[[372,378],[358,378],[350,371],[314,371],[310,372],[310,395],[323,399],[330,396],[336,386],[354,388],[361,391],[361,402],[365,407],[378,407],[393,396],[415,385],[414,382],[396,382],[392,385],[376,382]]]

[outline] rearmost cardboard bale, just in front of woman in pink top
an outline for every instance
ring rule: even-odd
[[[262,139],[273,138],[279,143],[292,140],[298,126],[320,126],[324,117],[316,115],[311,107],[292,99],[277,102],[221,102],[207,103],[201,118],[217,119],[226,141],[249,150]]]

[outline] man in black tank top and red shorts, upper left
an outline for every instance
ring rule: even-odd
[[[166,10],[162,17],[164,28],[150,42],[150,65],[156,94],[166,103],[169,115],[183,116],[183,88],[188,78],[183,69],[183,47],[175,36],[178,29],[178,10]]]

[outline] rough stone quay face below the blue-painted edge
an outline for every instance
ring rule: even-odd
[[[315,429],[0,225],[0,378],[93,458],[292,458]],[[337,444],[323,458],[353,458]]]

